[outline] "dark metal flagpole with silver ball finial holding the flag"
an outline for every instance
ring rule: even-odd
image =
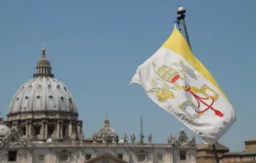
[[[181,7],[181,6],[178,7],[178,10],[177,10],[177,14],[178,14],[178,16],[177,16],[177,23],[178,23],[178,25],[182,24],[183,30],[184,30],[184,33],[185,33],[184,37],[187,40],[187,44],[188,44],[189,48],[192,51],[190,40],[189,40],[188,33],[187,33],[187,26],[186,26],[186,21],[185,21],[185,16],[186,16],[185,12],[186,12],[186,8],[185,7]],[[214,151],[214,155],[216,157],[216,163],[220,163],[220,158],[218,157],[217,151],[216,151],[216,143],[212,144],[212,148],[213,148],[213,151]]]

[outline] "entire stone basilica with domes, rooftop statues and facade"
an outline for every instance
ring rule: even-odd
[[[196,163],[196,139],[182,129],[163,144],[119,137],[109,119],[84,139],[83,121],[69,89],[51,72],[45,49],[36,73],[12,98],[7,120],[0,116],[0,163],[189,162]]]

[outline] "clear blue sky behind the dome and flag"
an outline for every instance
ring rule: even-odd
[[[185,128],[154,105],[139,85],[128,86],[136,68],[173,30],[176,10],[187,8],[193,53],[235,106],[238,121],[220,142],[231,151],[256,137],[254,71],[256,1],[1,1],[0,110],[31,79],[45,46],[55,77],[72,91],[86,137],[108,115],[121,136],[140,130],[166,142]],[[198,140],[198,139],[197,139]],[[201,143],[201,141],[197,141]]]

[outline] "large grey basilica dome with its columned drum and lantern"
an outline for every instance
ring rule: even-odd
[[[0,136],[15,126],[21,137],[35,141],[49,138],[66,140],[73,133],[83,133],[83,121],[78,120],[78,108],[73,95],[51,72],[45,48],[36,65],[33,78],[26,81],[12,97],[6,126],[0,125]]]

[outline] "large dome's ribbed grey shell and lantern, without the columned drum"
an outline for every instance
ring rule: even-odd
[[[7,115],[42,111],[78,114],[69,89],[51,73],[45,49],[42,50],[34,77],[26,81],[12,97]]]

